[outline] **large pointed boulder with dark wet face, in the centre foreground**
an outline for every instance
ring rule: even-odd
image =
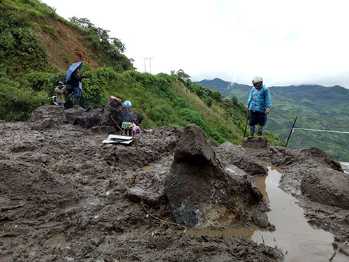
[[[238,177],[221,168],[200,127],[186,126],[165,178],[165,194],[175,219],[192,228],[242,220],[244,206],[258,203],[262,194]]]

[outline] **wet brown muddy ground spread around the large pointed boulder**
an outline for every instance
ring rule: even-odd
[[[165,180],[178,169],[174,153],[185,129],[147,130],[131,145],[106,145],[110,129],[67,124],[60,110],[0,123],[0,261],[283,261],[278,249],[241,236],[183,233]],[[236,175],[248,199],[266,172],[260,161],[268,161],[285,170],[281,187],[297,196],[311,224],[339,244],[349,238],[349,178],[325,152],[209,145],[214,165],[225,178]],[[258,201],[242,201],[230,226],[273,230]]]

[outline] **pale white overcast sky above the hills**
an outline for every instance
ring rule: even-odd
[[[348,0],[43,2],[67,20],[86,17],[110,30],[140,72],[349,88]]]

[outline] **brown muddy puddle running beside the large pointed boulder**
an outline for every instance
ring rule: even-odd
[[[276,231],[262,231],[258,226],[251,228],[223,228],[222,230],[202,228],[187,229],[186,232],[200,237],[201,235],[243,235],[258,244],[264,243],[270,247],[278,247],[285,254],[285,261],[320,262],[329,261],[334,254],[332,233],[314,228],[304,218],[304,211],[297,205],[297,200],[279,188],[283,170],[264,163],[269,172],[265,177],[257,179],[257,185],[269,201],[269,221]],[[336,254],[334,262],[348,262],[348,256]]]

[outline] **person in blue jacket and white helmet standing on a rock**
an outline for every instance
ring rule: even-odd
[[[265,85],[263,79],[259,76],[253,78],[253,87],[247,101],[247,110],[251,111],[249,126],[251,126],[251,133],[248,138],[253,138],[255,133],[255,125],[258,124],[258,138],[262,138],[263,126],[267,122],[267,115],[272,106],[272,99],[270,92]]]

